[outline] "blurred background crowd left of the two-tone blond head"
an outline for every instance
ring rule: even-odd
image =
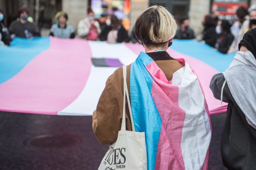
[[[40,30],[33,22],[33,18],[29,16],[26,7],[22,7],[17,12],[17,19],[11,23],[9,28],[4,24],[4,12],[0,9],[0,42],[1,44],[10,45],[11,40],[16,36],[20,38],[31,39],[40,37]],[[77,35],[73,26],[67,24],[68,14],[58,12],[55,15],[53,25],[50,29],[50,36],[58,38],[80,38],[91,41],[106,41],[109,43],[129,42],[127,30],[121,24],[116,15],[110,14],[106,16],[105,27],[101,30],[100,24],[94,18],[94,12],[90,7],[87,9],[87,17],[79,21]]]

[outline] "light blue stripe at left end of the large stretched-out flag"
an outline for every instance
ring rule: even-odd
[[[50,46],[49,37],[32,40],[14,38],[11,46],[0,46],[0,84],[15,76],[39,53]]]

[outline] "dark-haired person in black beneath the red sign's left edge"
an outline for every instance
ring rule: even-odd
[[[217,33],[215,31],[216,21],[210,15],[205,16],[204,21],[204,31],[203,31],[203,41],[208,45],[214,47],[217,39]]]

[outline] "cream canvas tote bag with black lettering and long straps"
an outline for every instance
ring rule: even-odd
[[[121,130],[117,140],[110,145],[98,170],[147,170],[147,150],[145,132],[135,132],[131,104],[126,83],[126,66],[123,66],[124,104]],[[125,100],[127,96],[132,131],[126,130]]]

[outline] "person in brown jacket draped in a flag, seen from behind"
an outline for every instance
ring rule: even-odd
[[[196,73],[184,59],[166,52],[176,29],[174,17],[162,6],[149,7],[135,23],[145,53],[127,66],[133,122],[135,131],[145,132],[149,170],[206,170],[212,131],[209,110]],[[92,127],[100,143],[117,139],[122,105],[120,67],[107,79],[93,113]],[[131,130],[129,114],[126,126]]]

